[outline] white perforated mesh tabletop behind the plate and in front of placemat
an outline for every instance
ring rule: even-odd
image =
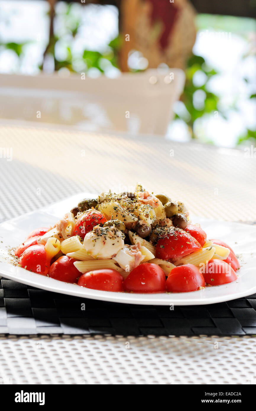
[[[243,151],[7,125],[0,148],[0,220],[137,181],[195,215],[256,220],[256,163]],[[0,383],[249,384],[255,367],[252,337],[0,337]]]

